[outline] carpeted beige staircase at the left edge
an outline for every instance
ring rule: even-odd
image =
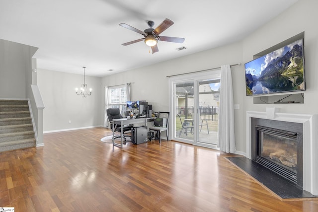
[[[28,101],[0,99],[0,152],[35,145]]]

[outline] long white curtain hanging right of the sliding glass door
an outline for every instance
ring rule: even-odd
[[[234,102],[230,65],[221,66],[217,146],[225,152],[236,151],[234,135]]]

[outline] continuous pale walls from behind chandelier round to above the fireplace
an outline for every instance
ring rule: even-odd
[[[87,77],[93,94],[81,98],[74,88],[82,83],[82,75],[38,70],[38,85],[43,101],[44,131],[103,125],[104,87],[132,82],[132,99],[147,100],[155,111],[168,110],[168,79],[166,75],[199,71],[224,64],[242,63],[232,68],[235,110],[235,133],[238,151],[245,152],[246,111],[265,111],[266,107],[279,107],[281,112],[318,114],[318,20],[315,8],[318,2],[299,0],[285,12],[257,29],[242,41],[189,56],[173,59],[131,71],[105,76]],[[300,32],[305,31],[305,57],[307,91],[304,104],[254,104],[254,97],[245,96],[244,63],[262,52]],[[184,50],[186,51],[186,50]],[[164,53],[159,53],[164,54]],[[136,77],[143,75],[144,78]],[[101,83],[101,84],[100,84]],[[68,124],[71,120],[72,123]]]

